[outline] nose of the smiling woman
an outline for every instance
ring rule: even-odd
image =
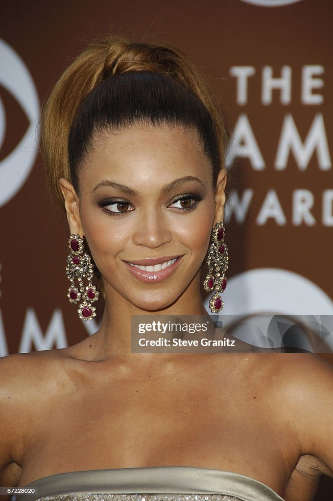
[[[168,222],[160,213],[152,211],[149,214],[142,214],[135,226],[133,243],[149,248],[157,248],[163,243],[171,242],[171,240],[172,231]]]

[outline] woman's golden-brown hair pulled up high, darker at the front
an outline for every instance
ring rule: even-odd
[[[198,69],[170,47],[107,36],[74,60],[42,112],[48,182],[61,201],[60,177],[79,192],[80,167],[92,150],[94,136],[133,125],[195,130],[216,184],[226,132]]]

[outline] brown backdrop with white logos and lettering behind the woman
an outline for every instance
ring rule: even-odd
[[[68,303],[66,222],[46,194],[34,138],[22,138],[73,57],[109,32],[182,49],[209,76],[231,127],[237,123],[229,278],[260,268],[296,273],[328,299],[308,314],[330,312],[333,9],[328,0],[270,2],[2,3],[0,355],[63,347],[94,329]],[[326,497],[317,499],[328,499],[329,485],[322,482]]]

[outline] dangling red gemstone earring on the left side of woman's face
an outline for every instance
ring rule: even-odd
[[[66,275],[71,282],[67,297],[75,305],[82,300],[79,306],[79,317],[83,320],[91,320],[96,317],[96,308],[91,305],[97,301],[99,292],[92,285],[94,276],[93,267],[89,254],[84,252],[84,241],[79,235],[71,235],[68,240],[68,246],[71,250],[67,257]],[[88,280],[88,286],[85,287],[83,280]],[[75,286],[75,280],[78,281],[78,287]]]

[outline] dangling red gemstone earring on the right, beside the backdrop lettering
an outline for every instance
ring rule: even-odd
[[[211,292],[215,289],[209,307],[212,313],[219,313],[223,308],[220,296],[227,286],[226,271],[228,270],[228,247],[224,243],[226,229],[222,222],[215,224],[212,231],[212,243],[208,249],[208,274],[204,280],[204,289]]]

